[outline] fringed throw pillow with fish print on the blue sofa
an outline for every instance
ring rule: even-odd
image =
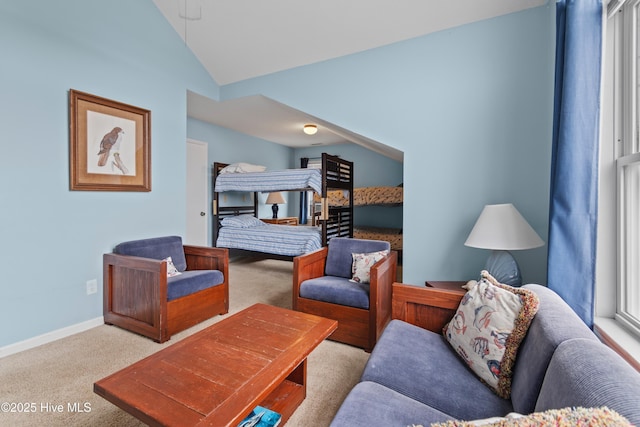
[[[444,326],[444,337],[484,383],[507,399],[518,347],[538,311],[538,297],[498,283],[484,270],[469,287]]]

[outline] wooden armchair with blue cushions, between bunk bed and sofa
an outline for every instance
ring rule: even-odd
[[[369,283],[352,280],[354,254],[388,251],[369,271]],[[338,321],[329,337],[371,351],[391,320],[397,253],[389,242],[334,237],[329,245],[293,259],[293,309]]]

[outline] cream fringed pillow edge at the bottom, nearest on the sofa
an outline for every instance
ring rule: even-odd
[[[417,427],[414,424],[415,427]],[[529,415],[508,414],[503,418],[488,418],[474,421],[447,421],[431,424],[431,427],[557,427],[557,426],[589,426],[589,427],[632,427],[625,417],[607,407],[602,408],[562,408],[534,412]]]

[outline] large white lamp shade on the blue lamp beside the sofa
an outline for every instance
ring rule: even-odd
[[[515,206],[507,203],[486,205],[464,244],[510,251],[537,248],[544,242]]]

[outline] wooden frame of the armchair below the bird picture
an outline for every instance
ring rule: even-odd
[[[166,261],[104,254],[104,322],[161,343],[206,319],[228,313],[228,249],[183,248],[187,270],[219,270],[224,282],[167,301]]]

